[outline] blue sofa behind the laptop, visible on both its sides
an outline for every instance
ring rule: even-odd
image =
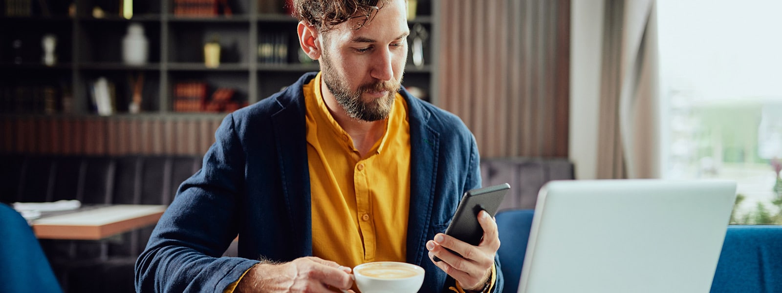
[[[518,291],[533,214],[533,209],[506,209],[496,215],[504,293]],[[729,226],[711,292],[782,292],[782,226]]]

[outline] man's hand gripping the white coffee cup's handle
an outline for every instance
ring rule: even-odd
[[[236,292],[332,292],[353,286],[350,268],[314,256],[290,263],[259,263],[247,271]]]

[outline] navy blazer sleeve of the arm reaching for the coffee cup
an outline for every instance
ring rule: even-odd
[[[245,155],[233,114],[215,133],[203,168],[183,182],[135,264],[137,292],[223,291],[256,260],[221,257],[236,237]]]

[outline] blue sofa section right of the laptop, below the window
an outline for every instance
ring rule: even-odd
[[[782,292],[782,226],[728,227],[712,293]]]

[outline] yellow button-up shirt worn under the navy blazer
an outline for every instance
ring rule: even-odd
[[[396,94],[386,133],[362,158],[328,112],[321,74],[303,88],[312,202],[312,252],[342,266],[407,259],[410,126]]]

